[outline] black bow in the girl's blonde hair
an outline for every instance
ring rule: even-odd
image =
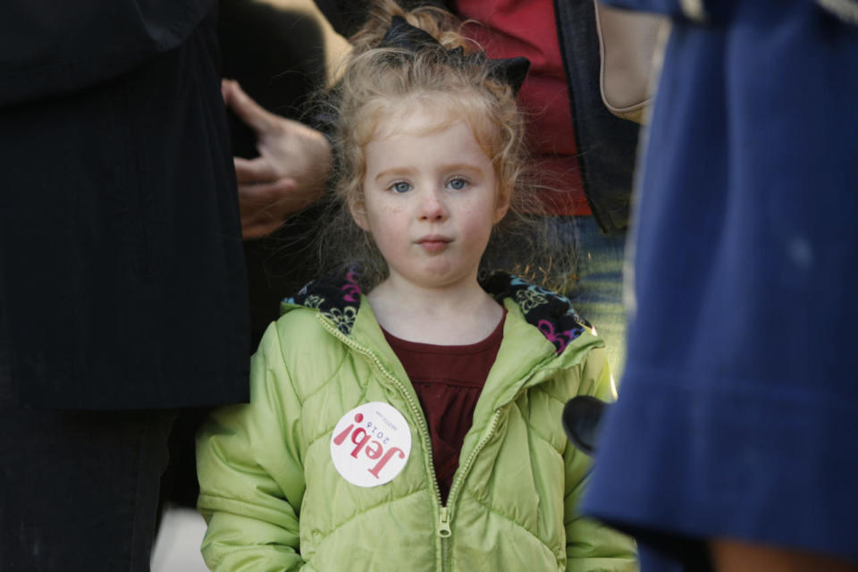
[[[419,52],[425,46],[440,46],[441,44],[423,29],[416,28],[401,16],[393,16],[391,27],[384,33],[379,47],[399,47],[410,52]],[[475,52],[465,55],[461,47],[447,50],[450,59],[461,65],[467,63],[483,63],[485,54]],[[510,57],[499,60],[489,60],[490,72],[495,80],[509,84],[513,93],[518,94],[521,84],[530,68],[530,60],[524,56]]]

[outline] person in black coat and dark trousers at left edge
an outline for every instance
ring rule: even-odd
[[[4,570],[147,570],[177,412],[248,399],[215,18],[0,5]]]

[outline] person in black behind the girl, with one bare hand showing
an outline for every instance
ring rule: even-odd
[[[220,72],[229,78],[221,91],[238,182],[251,349],[277,317],[284,292],[316,274],[310,237],[320,215],[315,202],[329,176],[330,145],[296,120],[304,117],[307,97],[328,82],[348,42],[312,0],[221,0],[216,37]],[[184,410],[172,427],[165,506],[193,509],[197,503],[194,434],[208,409]]]

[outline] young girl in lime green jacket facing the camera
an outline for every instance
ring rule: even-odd
[[[451,49],[440,13],[408,18],[442,43],[387,16],[338,90],[338,192],[383,266],[287,300],[251,402],[200,433],[206,562],[631,570],[632,542],[576,512],[590,459],[560,423],[575,395],[611,398],[602,342],[568,300],[480,271],[524,184],[522,63]]]

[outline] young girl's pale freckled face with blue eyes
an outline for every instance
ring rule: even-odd
[[[391,114],[364,149],[364,204],[352,215],[372,233],[391,281],[475,282],[492,226],[509,206],[469,124],[433,129],[445,119],[426,108]]]

